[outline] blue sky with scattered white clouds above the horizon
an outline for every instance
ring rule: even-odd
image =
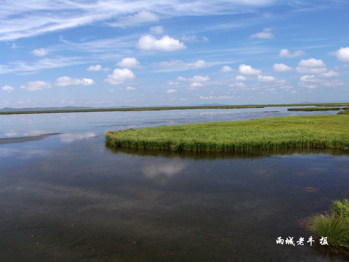
[[[0,108],[349,101],[348,0],[0,0]]]

